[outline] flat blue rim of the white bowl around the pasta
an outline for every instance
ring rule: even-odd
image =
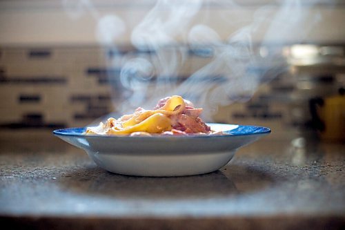
[[[221,125],[220,123],[208,123],[208,125]],[[70,137],[105,137],[105,138],[208,138],[208,137],[233,137],[242,135],[263,135],[271,132],[270,128],[264,126],[250,126],[241,124],[224,124],[224,125],[237,125],[237,128],[233,128],[230,131],[224,131],[226,135],[183,135],[183,136],[170,136],[170,135],[157,135],[152,137],[128,137],[128,136],[116,136],[116,135],[84,135],[86,127],[77,128],[61,128],[53,131],[54,135],[70,136]]]

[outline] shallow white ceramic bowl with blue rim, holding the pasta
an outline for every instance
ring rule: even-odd
[[[226,165],[238,148],[268,135],[260,126],[208,124],[226,135],[121,137],[83,135],[86,128],[53,133],[82,148],[95,163],[112,173],[139,176],[182,176],[210,173]]]

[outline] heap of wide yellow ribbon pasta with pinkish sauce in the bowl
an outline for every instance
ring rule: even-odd
[[[210,135],[215,134],[199,115],[202,108],[181,96],[160,99],[152,110],[137,108],[135,113],[113,117],[99,126],[88,127],[86,135]],[[217,134],[221,134],[217,132]]]

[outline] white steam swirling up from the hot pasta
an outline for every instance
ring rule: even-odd
[[[121,66],[117,82],[125,93],[116,99],[123,102],[116,104],[119,113],[138,106],[152,108],[162,97],[181,95],[203,107],[204,119],[210,121],[217,106],[246,102],[260,84],[284,71],[286,61],[280,48],[292,39],[303,41],[308,35],[304,28],[313,28],[320,20],[315,10],[310,11],[315,3],[302,6],[298,0],[277,1],[252,7],[248,13],[236,1],[159,0],[135,24],[117,15],[99,17],[87,0],[75,7],[78,14],[81,8],[92,9],[98,21],[97,39],[112,51],[117,52],[117,39],[126,32],[130,32],[132,46],[141,51],[110,62]],[[217,7],[219,14],[210,16]],[[254,42],[253,37],[259,39]],[[277,48],[265,50],[271,42]],[[193,62],[195,58],[199,62]],[[202,61],[205,64],[198,66]]]

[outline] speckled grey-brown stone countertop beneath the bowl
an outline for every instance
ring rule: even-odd
[[[99,169],[48,131],[2,131],[0,222],[23,229],[340,229],[344,171],[344,143],[264,137],[214,173],[130,177]]]

